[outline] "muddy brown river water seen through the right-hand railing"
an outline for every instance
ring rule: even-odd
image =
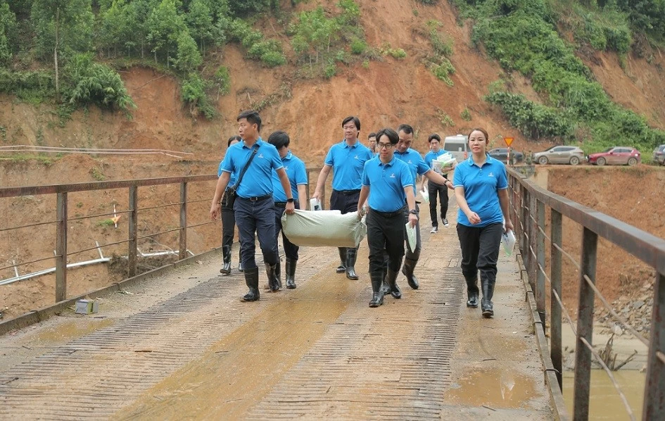
[[[626,395],[635,419],[641,420],[646,373],[638,370],[619,370],[612,374],[621,386],[621,391]],[[573,415],[574,381],[574,372],[564,372],[564,401],[571,417]],[[589,420],[630,420],[623,401],[616,393],[614,385],[604,370],[591,370]]]

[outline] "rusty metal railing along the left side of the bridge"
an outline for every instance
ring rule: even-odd
[[[321,168],[308,168],[308,180],[312,182],[312,177],[310,173],[314,172],[313,182],[315,183]],[[121,181],[105,181],[105,182],[87,182],[87,183],[76,183],[76,184],[55,184],[49,186],[30,186],[30,187],[6,187],[0,188],[0,199],[11,198],[18,196],[33,196],[33,195],[56,195],[56,218],[52,217],[50,220],[39,221],[32,224],[16,225],[11,224],[6,227],[0,226],[0,233],[11,233],[15,230],[20,230],[30,227],[45,227],[55,225],[56,227],[56,241],[53,244],[53,249],[55,250],[54,255],[49,256],[40,256],[39,258],[32,259],[30,261],[21,261],[20,263],[11,262],[10,265],[2,265],[0,263],[0,270],[7,270],[13,268],[16,270],[18,266],[30,265],[32,263],[39,263],[46,260],[55,260],[56,263],[56,303],[67,299],[67,267],[68,267],[68,257],[84,253],[86,251],[99,250],[108,246],[117,246],[119,244],[127,244],[127,260],[128,260],[128,269],[127,277],[134,277],[137,275],[137,258],[141,253],[138,251],[138,244],[141,239],[153,238],[161,234],[167,234],[170,232],[178,233],[178,243],[179,243],[179,253],[178,257],[180,260],[187,257],[187,230],[195,227],[201,227],[203,225],[213,224],[214,221],[209,220],[208,218],[208,207],[205,207],[202,215],[197,215],[197,220],[203,220],[204,222],[194,223],[188,225],[188,210],[189,206],[195,203],[210,203],[210,197],[213,195],[215,184],[213,183],[217,180],[215,175],[195,175],[195,176],[186,176],[186,177],[161,177],[161,178],[151,178],[151,179],[141,179],[141,180],[121,180]],[[203,199],[194,199],[189,200],[189,186],[191,184],[203,184],[205,185],[205,192],[210,196],[204,197]],[[139,188],[144,187],[153,187],[158,185],[177,185],[179,184],[179,197],[178,199],[173,198],[170,203],[160,204],[157,206],[148,206],[145,208],[139,208]],[[202,186],[203,187],[203,186]],[[84,215],[84,216],[75,216],[70,218],[68,216],[69,211],[69,200],[68,195],[73,192],[80,191],[106,191],[110,189],[127,189],[128,194],[128,203],[129,206],[127,211],[118,211],[113,213],[99,213],[96,215]],[[177,193],[172,193],[177,194]],[[308,198],[309,199],[310,191],[308,189]],[[322,191],[323,197],[325,198],[325,187]],[[168,199],[162,198],[162,199]],[[309,203],[309,201],[307,202]],[[322,201],[324,203],[324,201]],[[138,225],[139,225],[139,211],[150,211],[162,208],[179,208],[179,226],[172,228],[170,230],[162,230],[160,232],[152,232],[151,234],[139,235]],[[128,232],[127,238],[121,241],[113,241],[107,244],[96,244],[94,247],[87,249],[81,249],[76,251],[68,250],[68,237],[70,235],[70,230],[68,230],[68,223],[78,220],[89,220],[91,218],[100,218],[104,216],[124,214],[128,220]],[[69,265],[72,267],[72,265]]]

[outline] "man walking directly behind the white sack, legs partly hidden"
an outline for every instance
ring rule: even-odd
[[[355,212],[360,198],[360,178],[365,162],[372,159],[372,151],[360,143],[360,119],[349,116],[342,120],[344,139],[338,144],[330,147],[326,161],[319,173],[317,187],[312,198],[323,199],[321,190],[326,184],[330,170],[333,170],[333,191],[330,196],[330,208],[341,211],[341,213]],[[355,273],[355,259],[357,249],[339,248],[339,260],[341,264],[337,273],[346,272],[348,279],[358,279]]]

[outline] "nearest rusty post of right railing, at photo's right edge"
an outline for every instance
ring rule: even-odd
[[[656,274],[654,309],[651,317],[651,337],[647,356],[642,420],[665,419],[665,364],[658,352],[665,351],[665,275]]]

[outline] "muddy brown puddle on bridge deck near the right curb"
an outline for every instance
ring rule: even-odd
[[[538,396],[533,381],[526,375],[507,370],[476,370],[452,384],[446,394],[450,401],[466,406],[523,408]]]

